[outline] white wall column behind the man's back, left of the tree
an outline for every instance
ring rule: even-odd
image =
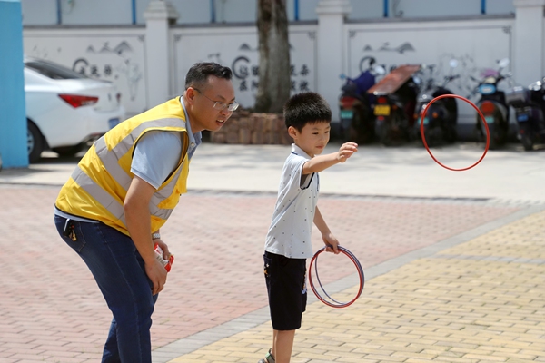
[[[175,23],[177,18],[178,13],[168,0],[152,0],[145,9],[147,108],[154,107],[170,98],[169,25]]]

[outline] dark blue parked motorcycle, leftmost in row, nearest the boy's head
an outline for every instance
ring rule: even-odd
[[[358,143],[372,142],[374,138],[374,118],[372,103],[374,97],[367,93],[374,84],[377,75],[385,74],[384,68],[376,65],[372,57],[366,57],[369,67],[357,78],[346,78],[339,98],[341,110],[341,132],[344,141]],[[366,59],[362,59],[362,63]]]

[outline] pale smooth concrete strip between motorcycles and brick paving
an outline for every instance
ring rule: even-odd
[[[328,144],[325,153],[338,150]],[[432,149],[452,168],[477,162],[482,147],[471,142]],[[190,167],[191,191],[276,192],[282,164],[289,153],[285,145],[227,145],[203,143]],[[0,183],[62,185],[77,159],[45,160],[30,170],[0,172]],[[345,164],[323,173],[321,193],[410,198],[471,198],[545,202],[545,149],[524,152],[519,144],[489,151],[482,162],[466,172],[451,172],[431,160],[423,147],[385,148],[362,145]]]

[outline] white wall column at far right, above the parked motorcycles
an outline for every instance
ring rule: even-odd
[[[522,85],[540,80],[543,64],[545,0],[513,0],[516,7],[513,79]]]

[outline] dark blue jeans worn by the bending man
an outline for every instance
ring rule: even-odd
[[[158,295],[133,240],[104,223],[68,221],[76,240],[64,236],[66,219],[54,216],[57,231],[89,267],[114,315],[103,363],[151,363],[150,328]],[[84,291],[82,291],[84,293]]]

